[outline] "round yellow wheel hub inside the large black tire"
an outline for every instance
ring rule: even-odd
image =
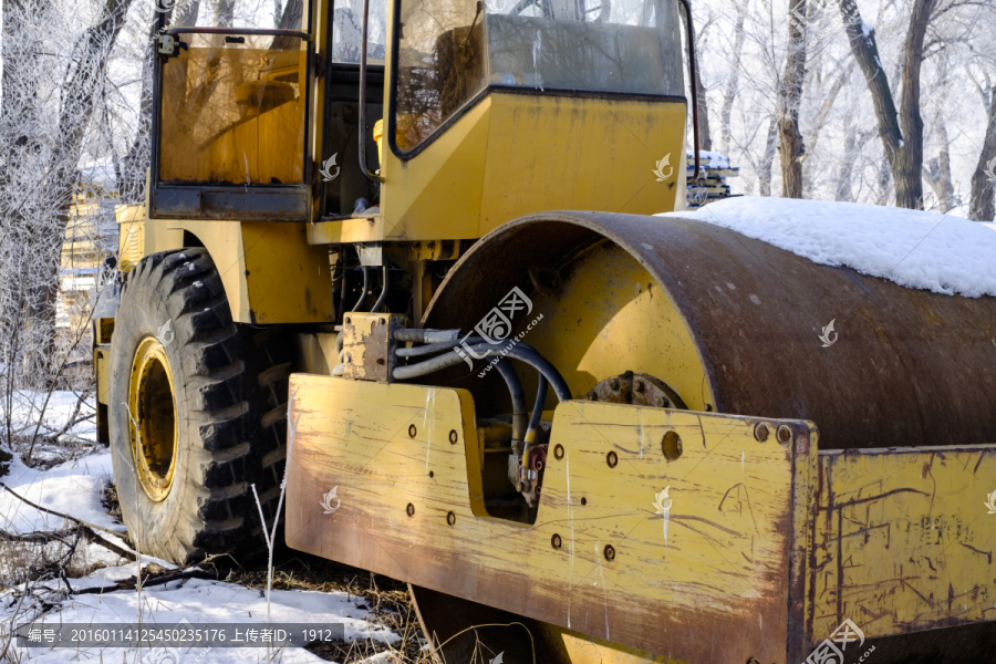
[[[164,500],[176,469],[176,391],[166,349],[146,336],[135,351],[128,382],[132,457],[148,497]]]

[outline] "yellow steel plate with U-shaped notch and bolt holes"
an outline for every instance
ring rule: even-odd
[[[466,391],[294,374],[290,392],[291,547],[682,661],[702,621],[730,634],[709,644],[730,661],[785,657],[792,449],[757,442],[756,419],[560,404],[528,526],[487,513]]]

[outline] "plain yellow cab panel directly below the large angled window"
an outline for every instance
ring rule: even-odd
[[[373,226],[386,240],[466,239],[551,209],[672,210],[685,113],[679,102],[492,92],[411,159],[384,151]],[[665,156],[674,168],[657,181]],[[341,241],[371,226],[334,224]]]

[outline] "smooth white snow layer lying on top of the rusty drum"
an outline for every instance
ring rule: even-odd
[[[855,203],[739,197],[667,212],[909,288],[996,297],[996,224]]]

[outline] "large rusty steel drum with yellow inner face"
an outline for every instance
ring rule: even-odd
[[[512,288],[532,302],[512,335],[542,314],[523,341],[558,367],[574,398],[599,398],[605,381],[634,372],[693,411],[811,421],[820,449],[996,442],[990,297],[907,289],[678,217],[561,211],[522,218],[477,242],[423,325],[473,330]],[[821,328],[831,320],[839,336],[824,347]],[[527,393],[536,386],[531,374],[521,372]],[[433,383],[469,390],[479,416],[509,412],[495,372],[454,370]],[[548,396],[547,409],[556,403]],[[516,616],[425,589],[413,594],[427,633],[452,639],[447,661],[471,653],[488,630],[498,650],[522,641],[507,637],[516,626],[461,633]],[[666,661],[522,622],[547,657],[537,661]],[[893,636],[875,656],[988,657],[992,624]],[[947,646],[954,650],[945,654]]]

